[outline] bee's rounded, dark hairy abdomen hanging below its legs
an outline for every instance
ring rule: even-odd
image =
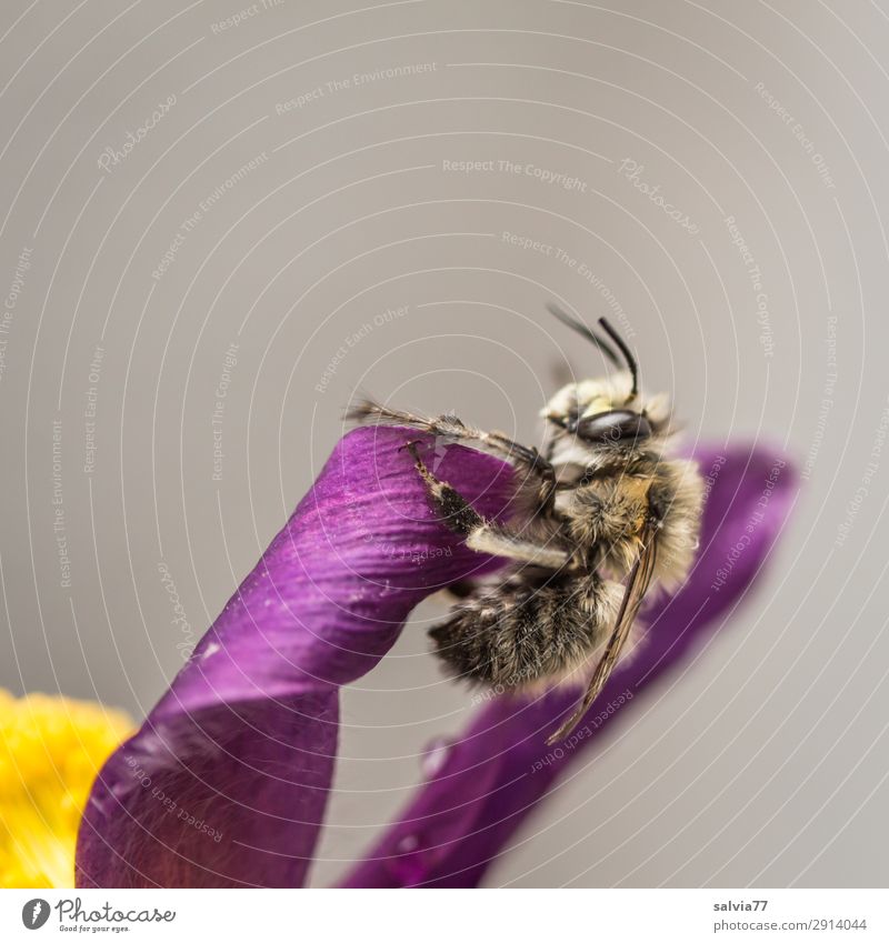
[[[613,626],[621,589],[595,573],[509,581],[460,602],[430,631],[436,653],[469,681],[520,688],[586,661]]]

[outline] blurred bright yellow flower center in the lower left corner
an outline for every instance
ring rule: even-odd
[[[0,887],[71,887],[92,781],[132,721],[89,701],[0,689]]]

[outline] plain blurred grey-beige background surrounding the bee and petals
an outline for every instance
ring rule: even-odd
[[[887,3],[6,0],[0,36],[0,685],[141,716],[357,390],[537,441],[600,369],[559,300],[802,488],[489,883],[886,885]],[[316,884],[472,711],[444,605],[346,692]]]

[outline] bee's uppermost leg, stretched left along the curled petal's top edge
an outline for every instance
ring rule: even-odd
[[[392,410],[372,402],[362,402],[349,411],[349,418],[357,420],[376,419],[419,429],[431,435],[439,435],[453,442],[477,442],[482,449],[502,455],[515,467],[523,469],[539,480],[538,505],[540,510],[549,510],[556,494],[556,470],[533,447],[521,445],[502,432],[485,432],[466,425],[456,415],[439,415],[426,419],[410,412]]]

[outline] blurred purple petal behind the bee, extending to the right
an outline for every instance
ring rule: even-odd
[[[795,475],[766,449],[699,451],[712,489],[693,572],[646,613],[645,645],[619,668],[563,744],[546,745],[577,693],[500,698],[481,711],[346,886],[475,886],[510,835],[642,689],[691,656],[758,574],[796,496]]]

